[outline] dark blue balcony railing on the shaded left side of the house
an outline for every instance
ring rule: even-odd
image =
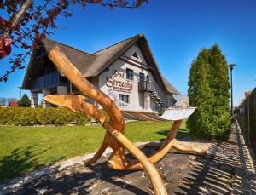
[[[49,74],[37,77],[31,83],[32,91],[49,89],[61,84],[60,72],[50,72]]]

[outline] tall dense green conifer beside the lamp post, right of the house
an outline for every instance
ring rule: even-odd
[[[189,102],[197,107],[188,120],[192,136],[217,140],[228,138],[229,89],[227,61],[218,45],[202,49],[189,72]]]

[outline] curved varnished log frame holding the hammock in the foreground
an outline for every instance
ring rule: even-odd
[[[44,100],[51,104],[67,107],[73,112],[83,112],[84,115],[89,118],[96,118],[96,120],[102,124],[102,127],[107,130],[102,146],[93,158],[85,162],[86,165],[96,163],[96,160],[100,158],[106,148],[110,146],[113,152],[108,159],[108,168],[116,170],[146,169],[154,186],[154,193],[167,194],[166,187],[154,163],[163,158],[166,153],[170,151],[172,146],[182,152],[194,152],[201,155],[207,154],[207,152],[202,149],[179,146],[177,141],[175,141],[174,138],[177,135],[177,130],[180,127],[182,119],[186,117],[183,115],[174,121],[166,141],[160,146],[158,152],[147,158],[143,152],[125,137],[125,121],[114,101],[87,81],[57,46],[49,52],[49,59],[53,61],[58,70],[65,75],[81,93],[91,100],[95,100],[108,113],[109,121],[106,121],[106,117],[102,112],[100,112],[96,106],[85,102],[86,98],[82,95],[48,95],[44,97]],[[163,117],[170,119],[168,118],[168,113],[167,115],[164,114]],[[136,158],[136,160],[125,157],[125,148],[131,152],[131,155]]]

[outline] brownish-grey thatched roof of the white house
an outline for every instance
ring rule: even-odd
[[[108,66],[110,66],[115,60],[119,59],[119,57],[125,53],[125,51],[131,48],[135,43],[140,44],[143,49],[148,50],[148,58],[151,60],[148,63],[150,66],[153,66],[156,70],[155,75],[159,77],[160,83],[164,84],[166,90],[172,94],[180,95],[180,93],[175,89],[171,83],[169,83],[166,78],[162,77],[160,70],[157,66],[156,61],[154,60],[154,56],[149,48],[148,41],[143,34],[137,34],[134,37],[130,37],[121,41],[119,43],[113,44],[112,46],[97,51],[94,54],[88,54],[79,49],[74,49],[73,47],[67,46],[63,43],[58,43],[50,39],[44,39],[42,41],[42,45],[46,52],[48,53],[55,46],[59,46],[64,54],[66,54],[67,58],[76,66],[79,71],[84,75],[84,77],[96,77],[100,73],[102,73]],[[33,52],[35,54],[36,52]],[[33,56],[32,56],[33,58]],[[23,88],[26,89],[27,77],[32,72],[32,64],[31,61],[26,70],[26,76],[23,81]],[[152,64],[152,65],[151,65]]]

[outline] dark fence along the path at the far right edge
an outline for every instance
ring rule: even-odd
[[[247,143],[253,146],[256,152],[256,88],[246,95],[236,110],[236,114]]]

